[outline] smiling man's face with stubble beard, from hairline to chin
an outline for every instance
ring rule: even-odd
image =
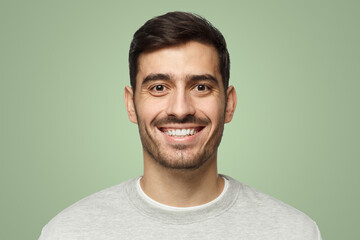
[[[216,159],[224,123],[231,117],[225,119],[215,48],[189,42],[143,53],[138,64],[134,103],[127,88],[127,102],[136,114],[127,107],[139,126],[144,158],[173,169],[196,169]]]

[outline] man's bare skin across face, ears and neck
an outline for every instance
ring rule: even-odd
[[[124,97],[143,145],[143,191],[175,207],[215,199],[224,187],[217,149],[237,101],[234,87],[225,95],[215,48],[191,41],[143,53],[138,64],[136,90]],[[176,129],[197,133],[166,134]]]

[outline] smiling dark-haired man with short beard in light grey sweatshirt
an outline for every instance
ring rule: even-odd
[[[216,28],[190,13],[155,17],[135,33],[129,62],[125,103],[144,174],[67,208],[41,240],[321,239],[305,214],[217,173],[236,92]]]

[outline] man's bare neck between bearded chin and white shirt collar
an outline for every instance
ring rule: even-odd
[[[218,197],[224,180],[217,173],[216,153],[198,169],[168,169],[144,156],[142,190],[153,200],[173,207],[192,207]]]

